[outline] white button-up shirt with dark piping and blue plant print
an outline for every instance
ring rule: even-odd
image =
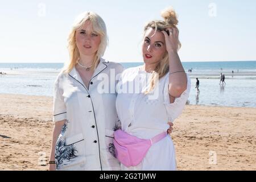
[[[98,86],[102,86],[102,76],[115,80],[122,70],[121,64],[101,59],[90,80],[89,89],[85,87],[76,68],[70,73],[62,72],[57,77],[53,121],[67,119],[56,142],[57,169],[120,169],[120,163],[114,158],[113,147],[113,134],[119,122],[115,109],[117,94],[115,90],[113,93],[101,94]]]

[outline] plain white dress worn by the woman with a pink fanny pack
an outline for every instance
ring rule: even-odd
[[[141,71],[140,68],[129,68],[122,73],[117,87],[116,107],[122,130],[138,138],[150,139],[167,131],[168,121],[173,122],[181,114],[189,96],[191,82],[187,77],[187,90],[170,104],[169,74],[160,78],[155,87],[155,96],[152,97],[142,93],[151,73]],[[135,89],[138,82],[141,86]],[[138,166],[127,168],[121,164],[121,170],[176,170],[175,148],[170,135],[153,144]]]

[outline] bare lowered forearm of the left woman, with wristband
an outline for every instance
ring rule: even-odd
[[[59,137],[61,129],[62,129],[63,125],[65,124],[65,122],[66,122],[66,120],[55,122],[55,125],[53,127],[51,153],[50,153],[50,157],[49,157],[50,161],[55,160],[55,145],[57,142],[57,138]],[[55,170],[56,170],[55,164],[49,164],[49,171],[55,171]]]

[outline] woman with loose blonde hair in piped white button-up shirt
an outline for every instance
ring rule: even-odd
[[[123,68],[101,57],[108,43],[104,20],[81,14],[68,43],[70,61],[55,82],[49,170],[119,170],[113,148],[116,94],[101,94],[98,85],[102,75],[115,84]]]

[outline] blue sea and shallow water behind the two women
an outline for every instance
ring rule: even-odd
[[[143,63],[121,63],[124,68]],[[190,105],[256,107],[256,61],[183,62],[191,78]],[[0,94],[53,96],[63,63],[0,63]],[[6,73],[6,74],[5,74]],[[220,84],[220,73],[226,84]],[[197,93],[196,78],[200,81]]]

